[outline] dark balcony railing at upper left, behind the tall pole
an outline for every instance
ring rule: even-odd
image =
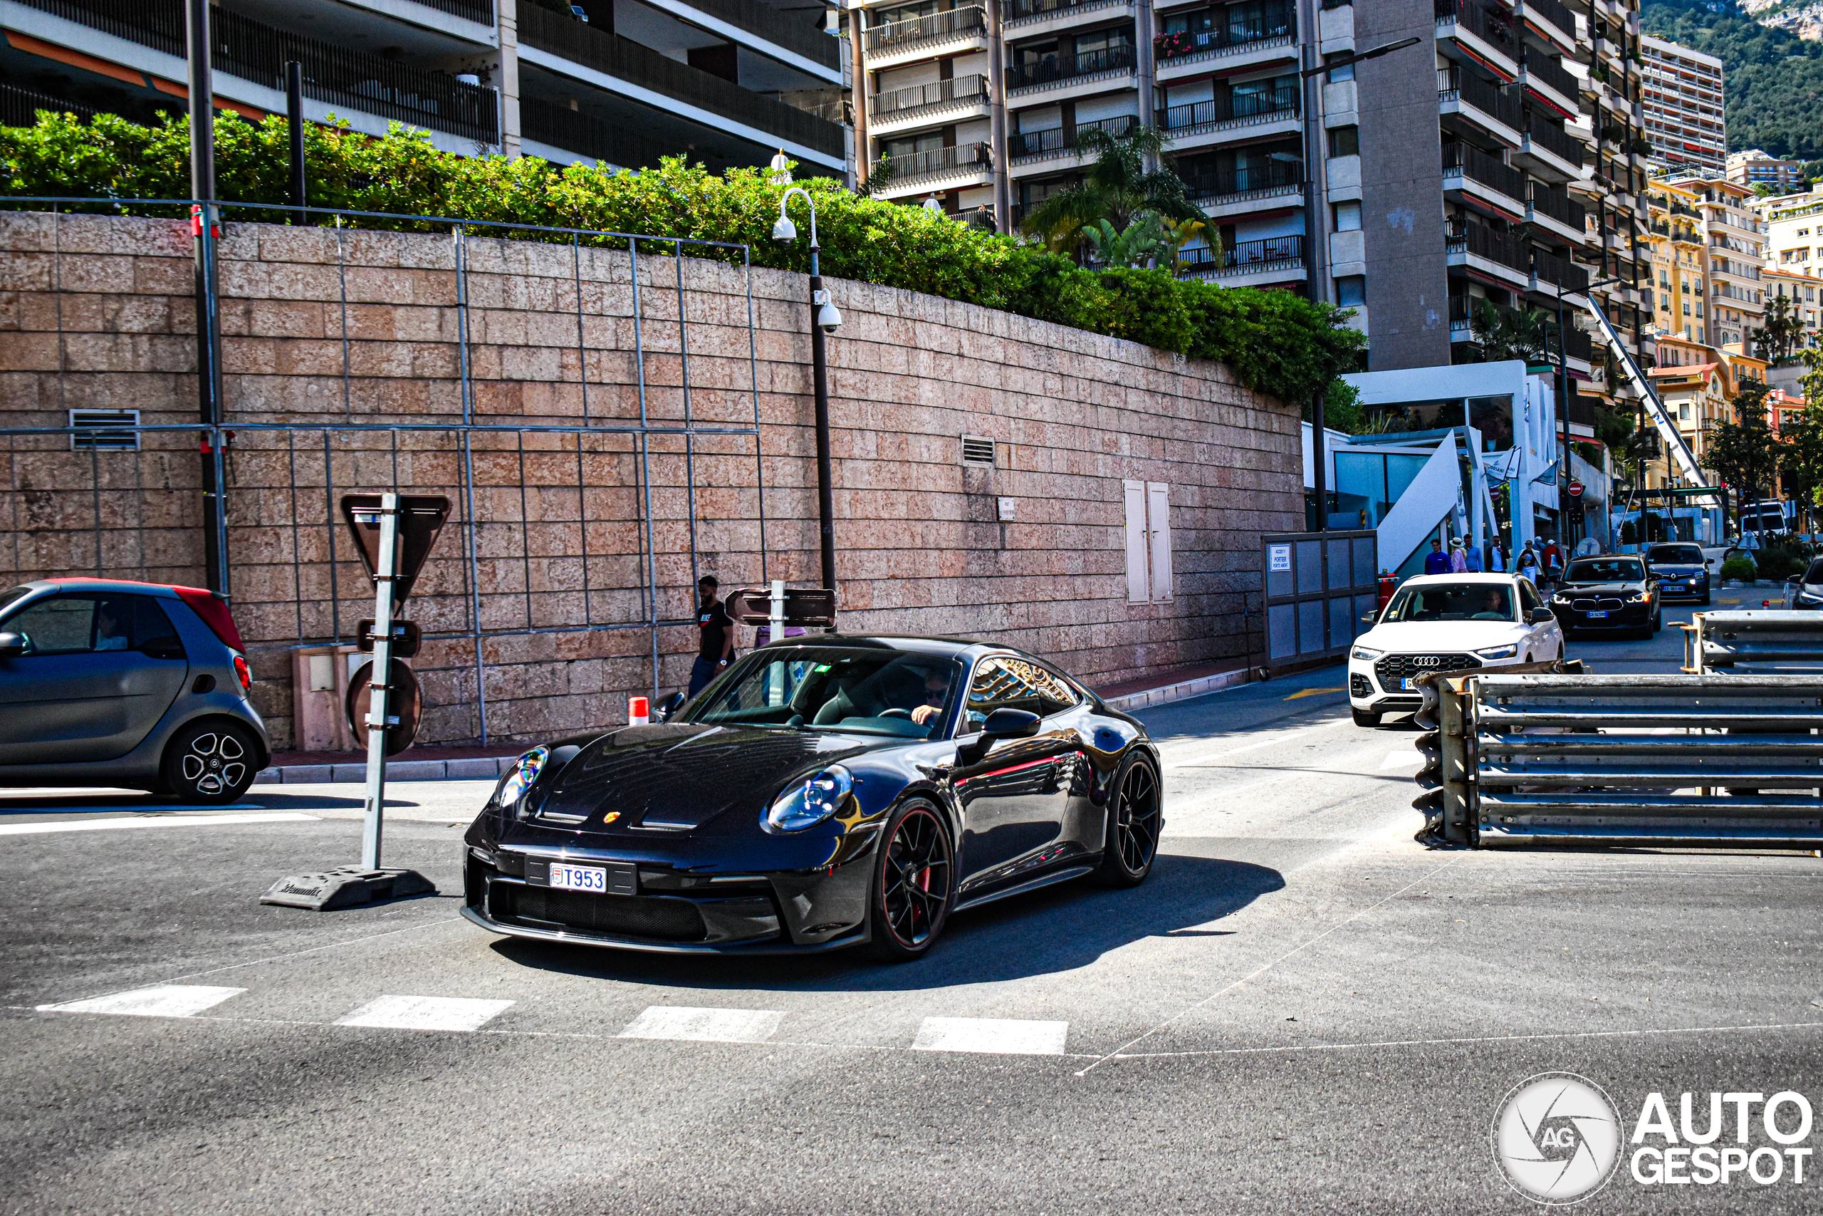
[[[182,0],[22,0],[40,13],[184,57]],[[284,88],[284,62],[304,66],[304,97],[450,135],[500,142],[494,89],[255,22],[217,7],[215,69],[268,89]],[[492,18],[489,18],[492,20]]]

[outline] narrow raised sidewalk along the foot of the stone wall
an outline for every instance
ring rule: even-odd
[[[1236,684],[1247,684],[1247,665],[1243,660],[1231,658],[1107,684],[1096,693],[1110,709],[1132,713],[1148,706],[1220,693]],[[412,747],[401,758],[386,762],[386,780],[494,780],[527,746]],[[363,780],[366,780],[366,753],[363,751],[275,751],[272,753],[272,768],[261,769],[253,784],[303,786],[357,784]]]

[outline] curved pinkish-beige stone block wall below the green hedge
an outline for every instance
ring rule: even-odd
[[[625,248],[226,228],[232,594],[279,746],[288,651],[372,614],[343,492],[454,503],[408,607],[448,634],[414,662],[427,742],[479,735],[474,622],[494,634],[489,735],[532,738],[622,720],[654,649],[664,691],[687,680],[696,572],[760,582],[764,552],[764,574],[817,582],[804,277],[682,252],[640,242],[634,275]],[[1258,538],[1302,516],[1293,407],[1223,365],[829,288],[844,631],[1006,640],[1090,682],[1258,651]],[[180,222],[0,215],[0,427],[64,427],[75,408],[193,423],[190,292]],[[465,419],[481,428],[467,441]],[[963,434],[994,439],[992,467],[961,461]],[[139,452],[4,443],[15,580],[202,582],[195,430],[148,432]],[[1170,487],[1170,602],[1128,603],[1125,479]]]

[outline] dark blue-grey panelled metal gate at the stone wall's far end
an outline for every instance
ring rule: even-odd
[[[1267,667],[1338,658],[1369,629],[1378,534],[1283,532],[1260,538]]]

